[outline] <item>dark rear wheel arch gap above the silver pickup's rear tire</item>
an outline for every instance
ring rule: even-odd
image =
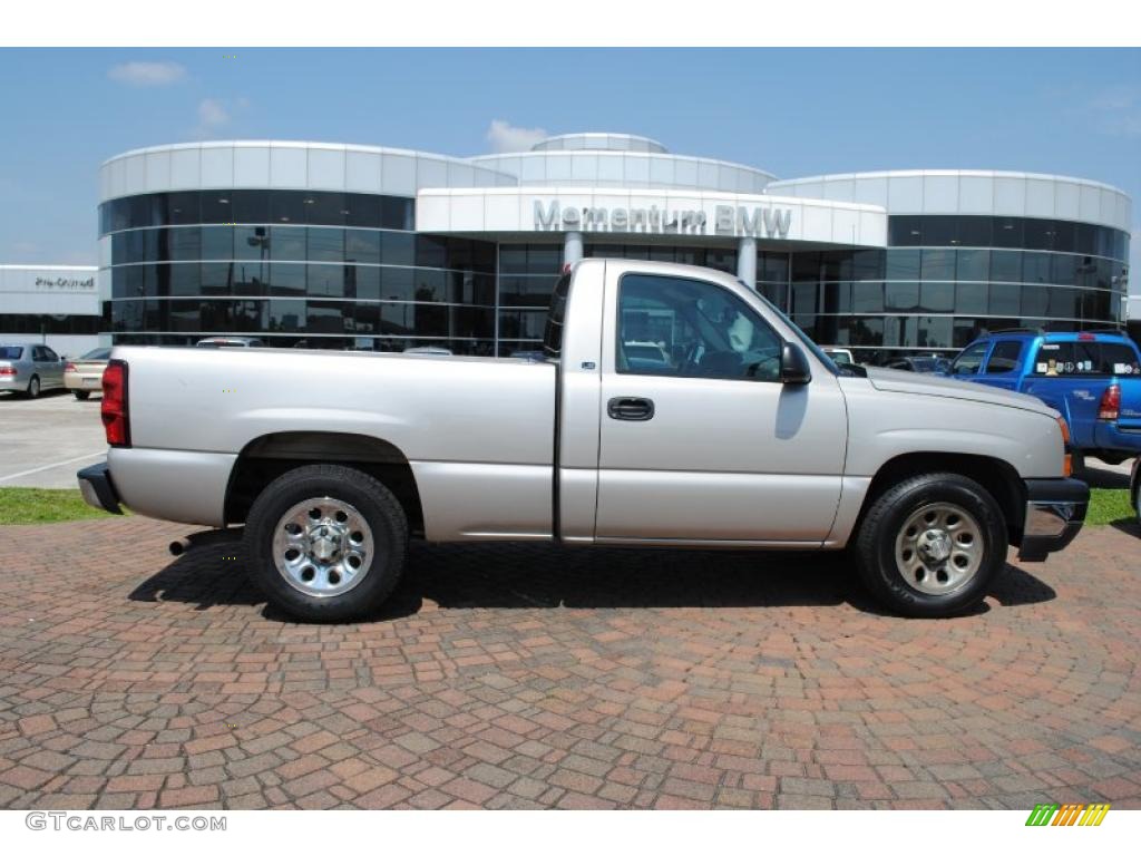
[[[226,486],[226,525],[244,523],[253,500],[275,478],[313,463],[340,463],[367,473],[399,501],[410,531],[423,532],[423,506],[404,452],[380,437],[342,431],[280,431],[246,443]]]

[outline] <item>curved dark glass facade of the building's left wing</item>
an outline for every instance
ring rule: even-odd
[[[495,244],[418,235],[411,199],[203,191],[104,203],[116,342],[495,352]]]

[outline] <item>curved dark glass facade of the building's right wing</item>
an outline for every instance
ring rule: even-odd
[[[897,353],[956,350],[986,331],[1122,324],[1128,235],[1119,229],[1036,218],[893,216],[889,235],[885,250],[788,256],[787,310],[817,342],[879,362]],[[758,265],[758,288],[774,298],[779,272],[767,268],[767,261]]]

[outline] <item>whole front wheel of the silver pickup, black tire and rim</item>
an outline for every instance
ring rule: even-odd
[[[885,606],[912,617],[978,606],[1005,567],[1008,547],[998,503],[953,473],[914,476],[888,490],[872,503],[856,539],[864,583]]]

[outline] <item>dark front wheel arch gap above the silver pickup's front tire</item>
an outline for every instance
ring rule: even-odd
[[[858,533],[872,504],[892,485],[926,473],[954,473],[977,482],[994,496],[1006,522],[1010,543],[1022,543],[1026,525],[1026,486],[1018,470],[1001,458],[958,452],[907,452],[885,461],[868,485],[852,533]]]

